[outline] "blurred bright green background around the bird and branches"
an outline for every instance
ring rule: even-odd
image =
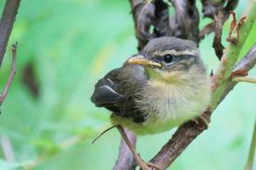
[[[0,1],[2,11],[5,1]],[[247,1],[235,12],[240,17]],[[201,9],[200,4],[199,9]],[[209,20],[201,20],[200,28]],[[231,19],[223,30],[223,43]],[[17,74],[1,107],[0,138],[11,145],[0,169],[36,163],[36,170],[112,169],[120,143],[117,130],[91,141],[109,127],[109,112],[89,100],[94,83],[136,53],[127,0],[22,0],[0,69],[0,89],[11,67],[11,43],[18,41]],[[240,57],[255,43],[256,25]],[[208,72],[216,69],[213,34],[200,51]],[[256,69],[249,73],[256,77]],[[256,86],[240,83],[214,112],[212,123],[169,169],[243,169],[255,121]],[[149,160],[175,129],[139,136],[137,150]]]

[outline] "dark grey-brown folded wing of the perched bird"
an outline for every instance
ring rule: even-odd
[[[128,69],[129,73],[124,68],[110,71],[95,84],[91,101],[98,107],[105,107],[107,110],[112,110],[114,114],[132,118],[136,123],[144,122],[144,115],[135,109],[134,102],[134,94],[139,83],[141,84],[141,81],[144,80],[144,72],[141,73],[141,70],[136,69]],[[139,71],[141,75],[134,71]],[[129,81],[127,78],[131,78],[132,81]],[[139,81],[136,81],[138,78]]]

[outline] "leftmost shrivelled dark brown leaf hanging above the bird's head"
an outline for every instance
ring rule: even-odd
[[[171,36],[168,5],[162,0],[141,2],[132,10],[140,51],[152,38]]]

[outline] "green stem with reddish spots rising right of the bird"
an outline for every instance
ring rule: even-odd
[[[230,43],[226,47],[226,51],[224,51],[224,54],[222,56],[221,64],[218,66],[216,74],[214,74],[212,78],[213,95],[212,101],[210,103],[210,111],[215,110],[218,101],[222,96],[222,92],[225,90],[227,84],[230,82],[229,78],[231,76],[232,69],[234,68],[235,63],[238,60],[238,56],[245,44],[245,40],[254,25],[254,21],[256,19],[255,11],[256,1],[250,0],[248,6],[245,9],[245,13],[242,15],[242,17],[246,16],[246,20],[245,23],[240,26],[240,37],[238,38],[238,45]]]

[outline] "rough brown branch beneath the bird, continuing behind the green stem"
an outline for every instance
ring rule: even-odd
[[[238,69],[249,71],[249,69],[252,69],[255,64],[256,45],[251,48],[251,50],[242,60],[240,60],[240,62],[237,63],[233,71],[235,72]],[[231,81],[226,86],[226,90],[223,92],[222,98],[219,100],[218,104],[224,99],[228,92],[231,92],[232,88],[235,87],[236,84],[237,83]],[[203,117],[210,122],[211,112],[204,112]],[[204,124],[201,122],[196,124],[190,121],[183,124],[177,129],[175,134],[171,137],[171,140],[162,147],[162,150],[160,150],[150,162],[156,163],[162,168],[167,168],[182,153],[182,151],[185,150],[188,145],[190,145],[191,141],[193,141],[201,132],[203,132],[203,130],[205,130],[205,128]]]

